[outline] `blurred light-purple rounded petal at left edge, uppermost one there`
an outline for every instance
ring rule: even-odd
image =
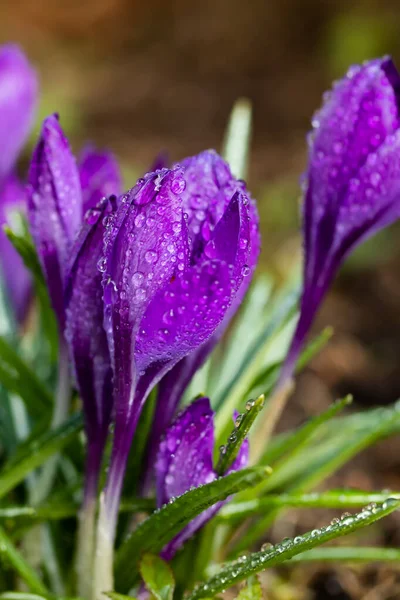
[[[0,180],[17,160],[37,101],[36,74],[18,46],[0,48]]]

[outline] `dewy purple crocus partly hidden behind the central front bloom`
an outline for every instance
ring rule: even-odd
[[[189,353],[169,371],[159,383],[159,393],[152,432],[147,449],[147,467],[144,473],[144,492],[150,484],[155,448],[160,436],[171,421],[185,388],[194,373],[206,360],[240,306],[250,285],[260,253],[259,219],[256,205],[246,191],[245,183],[235,179],[227,163],[212,151],[187,158],[181,163],[185,169],[186,187],[181,194],[184,212],[188,215],[190,260],[198,256],[212,257],[215,243],[217,255],[225,247],[226,261],[233,265],[231,301],[222,321],[213,335]],[[230,204],[235,193],[242,195],[242,217],[234,213]],[[235,209],[236,210],[236,209]],[[240,220],[242,219],[242,227]],[[243,223],[246,222],[246,225]],[[219,228],[222,231],[218,233]],[[224,239],[225,232],[228,232]]]

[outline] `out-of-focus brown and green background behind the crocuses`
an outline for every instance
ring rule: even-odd
[[[0,1],[0,42],[18,42],[40,74],[39,116],[59,112],[77,152],[87,140],[113,150],[127,187],[162,150],[178,160],[220,148],[234,101],[250,98],[260,269],[277,278],[300,257],[298,181],[312,113],[351,63],[390,53],[400,64],[399,32],[398,0]],[[357,408],[400,396],[399,233],[384,232],[342,270],[315,324],[332,324],[335,336],[299,378],[281,427],[347,392]],[[364,453],[340,484],[399,489],[400,445]],[[390,526],[381,535],[390,541]],[[366,597],[350,575],[317,572],[315,597]],[[371,595],[390,572],[374,577],[368,598],[392,597]]]

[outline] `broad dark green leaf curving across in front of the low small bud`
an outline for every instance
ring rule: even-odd
[[[178,496],[143,521],[117,553],[118,588],[127,591],[138,575],[136,565],[145,552],[158,553],[194,517],[228,496],[256,485],[268,475],[264,467],[242,469]]]

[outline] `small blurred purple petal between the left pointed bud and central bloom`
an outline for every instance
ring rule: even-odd
[[[79,176],[83,213],[97,206],[102,198],[122,193],[121,172],[110,152],[99,152],[90,146],[85,148],[79,160]]]

